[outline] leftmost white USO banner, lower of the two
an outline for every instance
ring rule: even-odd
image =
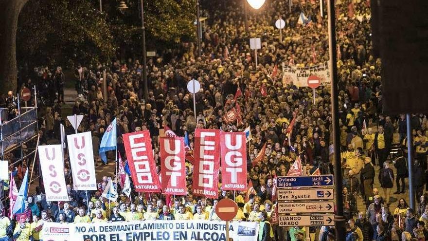
[[[69,201],[61,145],[38,146],[46,201]]]

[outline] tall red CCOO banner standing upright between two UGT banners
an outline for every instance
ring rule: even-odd
[[[220,169],[220,130],[195,130],[193,194],[217,198]]]

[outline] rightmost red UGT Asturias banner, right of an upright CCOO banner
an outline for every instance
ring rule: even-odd
[[[223,190],[247,191],[247,145],[244,132],[221,132]]]

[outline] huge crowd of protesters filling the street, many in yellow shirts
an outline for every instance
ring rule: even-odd
[[[321,85],[316,89],[313,103],[311,89],[297,88],[281,76],[283,64],[298,67],[327,64],[327,20],[320,17],[318,1],[293,1],[290,13],[285,1],[273,0],[265,3],[261,11],[249,14],[246,32],[244,15],[236,13],[236,9],[241,8],[238,2],[215,0],[212,4],[215,9],[204,10],[204,14],[209,16],[209,24],[204,29],[201,56],[196,55],[196,45],[191,42],[148,59],[147,101],[143,98],[143,66],[139,60],[118,60],[93,69],[79,64],[74,71],[78,96],[72,113],[85,115],[79,131],[92,132],[95,161],[99,165],[103,164],[98,157],[100,140],[115,117],[118,151],[123,157],[125,151],[120,136],[150,130],[158,172],[158,136],[165,126],[178,136],[187,132],[190,151],[194,148],[196,128],[243,131],[250,127],[248,181],[254,193],[224,191],[220,187],[219,199],[230,198],[238,203],[240,208],[234,221],[265,223],[270,221],[276,205],[272,197],[273,178],[286,176],[298,157],[304,174],[310,175],[317,168],[321,174],[333,174],[329,86]],[[413,210],[404,199],[393,204],[391,196],[394,184],[396,191],[393,194],[406,192],[405,152],[390,155],[393,144],[406,145],[406,122],[404,115],[382,114],[381,61],[371,55],[370,4],[363,0],[354,0],[353,3],[342,0],[336,5],[339,13],[339,124],[346,240],[428,240],[428,207],[424,196],[427,118],[424,114],[414,114],[411,118],[416,154],[414,186],[418,200],[418,208]],[[298,24],[301,12],[312,21]],[[280,16],[286,23],[282,42],[273,24]],[[262,38],[258,66],[254,63],[249,37]],[[273,74],[275,65],[278,74]],[[103,79],[104,70],[106,80]],[[58,67],[55,74],[47,67],[37,69],[37,73],[36,84],[41,87],[40,92],[44,91],[43,101],[48,106],[39,125],[40,144],[44,145],[50,139],[59,140],[61,123],[65,125],[66,134],[72,134],[74,130],[61,113],[65,81],[61,68]],[[196,93],[196,119],[193,96],[186,90],[186,84],[192,78],[201,83],[201,91]],[[103,81],[107,81],[107,94],[102,91]],[[23,83],[27,87],[33,85],[31,80]],[[266,88],[266,95],[260,91],[262,86]],[[238,90],[243,94],[234,98]],[[222,117],[237,105],[242,110],[242,121],[226,123]],[[293,119],[294,126],[289,133],[287,129]],[[263,159],[252,165],[265,143]],[[112,159],[114,154],[113,157],[110,155]],[[392,165],[396,168],[395,173]],[[0,211],[0,241],[9,240],[12,236],[18,240],[28,240],[30,236],[33,240],[42,240],[39,234],[44,222],[219,220],[215,214],[219,199],[192,194],[193,167],[190,162],[186,166],[188,195],[171,199],[161,194],[148,196],[132,192],[131,199],[122,193],[117,202],[108,202],[101,194],[109,177],[103,177],[98,190],[88,192],[88,198],[86,192],[71,188],[70,171],[66,160],[70,201],[46,202],[41,185],[34,196],[28,197],[25,213],[9,220],[8,212]],[[112,178],[116,181],[116,177]],[[375,178],[381,191],[373,188]],[[120,185],[118,188],[121,193]],[[357,200],[366,204],[366,210],[358,210]],[[276,241],[304,240],[308,238],[306,229],[316,233],[319,241],[335,240],[333,226],[285,228],[266,223],[264,225],[274,231],[274,237],[268,238]]]

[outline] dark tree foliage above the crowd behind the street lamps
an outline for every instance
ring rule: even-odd
[[[120,48],[141,50],[140,0],[29,0],[19,16],[18,64],[96,64]],[[196,37],[196,0],[144,0],[148,46],[161,49]],[[153,49],[148,48],[148,49]],[[141,53],[140,51],[138,53]]]

